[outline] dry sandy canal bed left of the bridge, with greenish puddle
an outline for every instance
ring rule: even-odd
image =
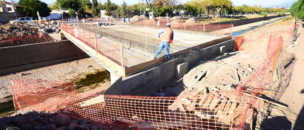
[[[72,67],[73,72],[72,73]],[[75,60],[68,63],[61,63],[57,65],[52,65],[48,67],[42,67],[38,69],[28,70],[24,72],[14,73],[10,75],[0,76],[0,101],[2,98],[12,95],[12,90],[10,86],[10,80],[28,78],[28,79],[44,79],[44,80],[60,80],[73,82],[73,74],[76,85],[86,85],[86,86],[108,86],[109,76],[103,76],[102,80],[106,80],[106,83],[101,81],[95,81],[95,76],[101,76],[100,72],[104,72],[103,68],[92,60],[92,58],[86,58],[82,60]],[[21,76],[21,73],[25,75]],[[109,74],[109,73],[108,73]],[[87,81],[90,78],[93,81]],[[92,78],[93,77],[93,78]],[[95,81],[95,82],[94,82]],[[100,84],[96,84],[100,82]],[[102,85],[101,85],[102,84]],[[80,86],[81,87],[81,86]],[[79,90],[80,92],[86,91],[86,89]]]

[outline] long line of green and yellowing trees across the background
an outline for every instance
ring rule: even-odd
[[[303,0],[299,0],[303,1]],[[298,2],[299,3],[299,2]],[[140,12],[140,5],[142,12]],[[85,15],[100,16],[100,10],[106,10],[105,15],[111,16],[113,11],[116,11],[117,17],[129,17],[130,13],[141,15],[144,12],[147,14],[150,11],[155,12],[156,16],[166,16],[166,14],[185,16],[201,16],[201,15],[226,15],[226,14],[267,14],[272,12],[287,12],[287,9],[280,8],[262,8],[261,5],[240,5],[234,6],[231,0],[191,0],[182,3],[181,0],[143,0],[143,3],[127,5],[125,1],[118,5],[112,3],[111,0],[106,0],[100,3],[97,0],[57,0],[50,6],[54,9],[67,9],[70,15],[85,17]],[[145,9],[149,10],[146,11]]]

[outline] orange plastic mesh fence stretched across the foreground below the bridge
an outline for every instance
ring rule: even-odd
[[[73,88],[73,89],[66,89]],[[235,92],[179,97],[75,94],[73,83],[12,80],[16,109],[69,110],[102,124],[122,122],[136,129],[232,128]]]

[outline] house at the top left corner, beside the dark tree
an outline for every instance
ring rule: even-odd
[[[20,11],[21,7],[17,4],[14,4],[13,8],[12,3],[0,2],[0,22],[7,23],[11,20],[16,20],[18,17],[25,17],[25,15]]]

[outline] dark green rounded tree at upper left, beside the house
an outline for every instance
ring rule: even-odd
[[[47,7],[47,4],[39,0],[19,0],[18,5],[20,5],[21,10],[28,16],[37,18],[37,11],[39,12],[40,17],[50,16],[50,8]]]

